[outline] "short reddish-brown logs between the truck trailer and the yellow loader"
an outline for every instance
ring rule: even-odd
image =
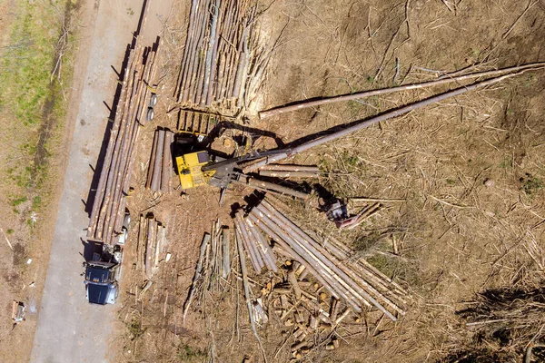
[[[157,129],[154,133],[154,145],[150,156],[145,187],[151,191],[170,191],[173,174],[173,157],[171,148],[174,132]]]

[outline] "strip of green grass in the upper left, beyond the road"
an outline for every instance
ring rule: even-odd
[[[47,159],[54,157],[51,150],[60,142],[66,109],[64,90],[69,89],[73,72],[69,60],[73,55],[74,35],[69,34],[60,77],[64,85],[56,76],[52,81],[55,47],[61,32],[59,15],[64,14],[67,4],[74,7],[75,2],[17,1],[10,10],[15,20],[9,30],[9,47],[0,53],[0,70],[3,71],[0,72],[3,84],[0,111],[5,116],[5,130],[13,133],[5,137],[12,148],[5,155],[0,182],[15,195],[22,196],[12,201],[14,207],[32,201],[29,208],[37,211],[43,205],[43,195],[47,195],[42,191],[50,172]],[[51,121],[45,139],[45,161],[34,165],[45,120]],[[14,213],[20,212],[30,211],[14,208]]]

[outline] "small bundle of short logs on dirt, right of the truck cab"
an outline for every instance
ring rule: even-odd
[[[159,262],[165,247],[165,227],[155,220],[154,214],[140,215],[140,227],[138,230],[137,265],[144,266],[147,280],[152,280],[159,268]]]

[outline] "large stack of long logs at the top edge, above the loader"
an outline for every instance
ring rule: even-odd
[[[232,110],[243,105],[256,9],[248,0],[193,0],[176,87],[179,103],[223,102]]]

